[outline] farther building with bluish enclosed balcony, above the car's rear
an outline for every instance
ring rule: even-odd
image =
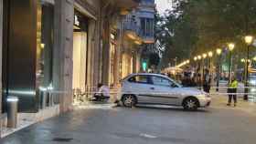
[[[124,47],[133,47],[130,48],[133,53],[133,60],[130,59],[131,63],[133,62],[133,67],[124,72],[122,77],[131,72],[143,71],[141,64],[145,55],[155,50],[155,6],[155,0],[141,0],[139,6],[124,19],[124,29],[128,30],[128,37],[135,39],[134,42],[137,45],[131,46],[131,43],[129,43],[130,46],[125,43],[123,45]],[[127,48],[125,49],[127,50]]]

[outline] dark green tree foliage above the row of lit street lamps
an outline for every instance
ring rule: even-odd
[[[243,57],[243,37],[256,34],[255,0],[176,0],[176,7],[162,19],[162,29],[171,36],[162,39],[164,66],[179,60],[236,44],[236,53]],[[163,22],[164,21],[164,22]]]

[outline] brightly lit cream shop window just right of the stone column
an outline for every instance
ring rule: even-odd
[[[84,93],[91,78],[88,76],[91,68],[88,59],[90,57],[88,53],[88,18],[77,10],[74,14],[73,28],[72,88],[76,93]]]

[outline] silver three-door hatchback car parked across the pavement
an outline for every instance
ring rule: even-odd
[[[175,80],[158,74],[131,74],[122,81],[118,95],[124,107],[136,104],[182,106],[197,110],[210,105],[209,95],[197,88],[182,87]]]

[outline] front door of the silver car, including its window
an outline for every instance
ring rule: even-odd
[[[166,77],[152,76],[151,83],[155,87],[152,98],[156,104],[177,105],[178,91],[176,84]]]

